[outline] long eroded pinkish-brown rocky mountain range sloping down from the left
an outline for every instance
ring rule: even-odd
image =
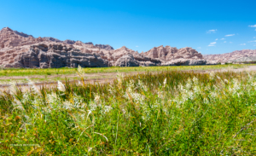
[[[189,62],[189,63],[188,63]],[[125,46],[113,49],[108,44],[44,37],[34,38],[9,27],[0,31],[0,66],[5,67],[77,67],[77,66],[178,66],[207,65],[195,49],[170,46],[154,47],[145,53]]]

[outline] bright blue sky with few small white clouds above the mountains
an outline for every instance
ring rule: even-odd
[[[255,0],[8,0],[0,5],[0,29],[138,52],[170,45],[223,54],[256,49],[255,7]]]

